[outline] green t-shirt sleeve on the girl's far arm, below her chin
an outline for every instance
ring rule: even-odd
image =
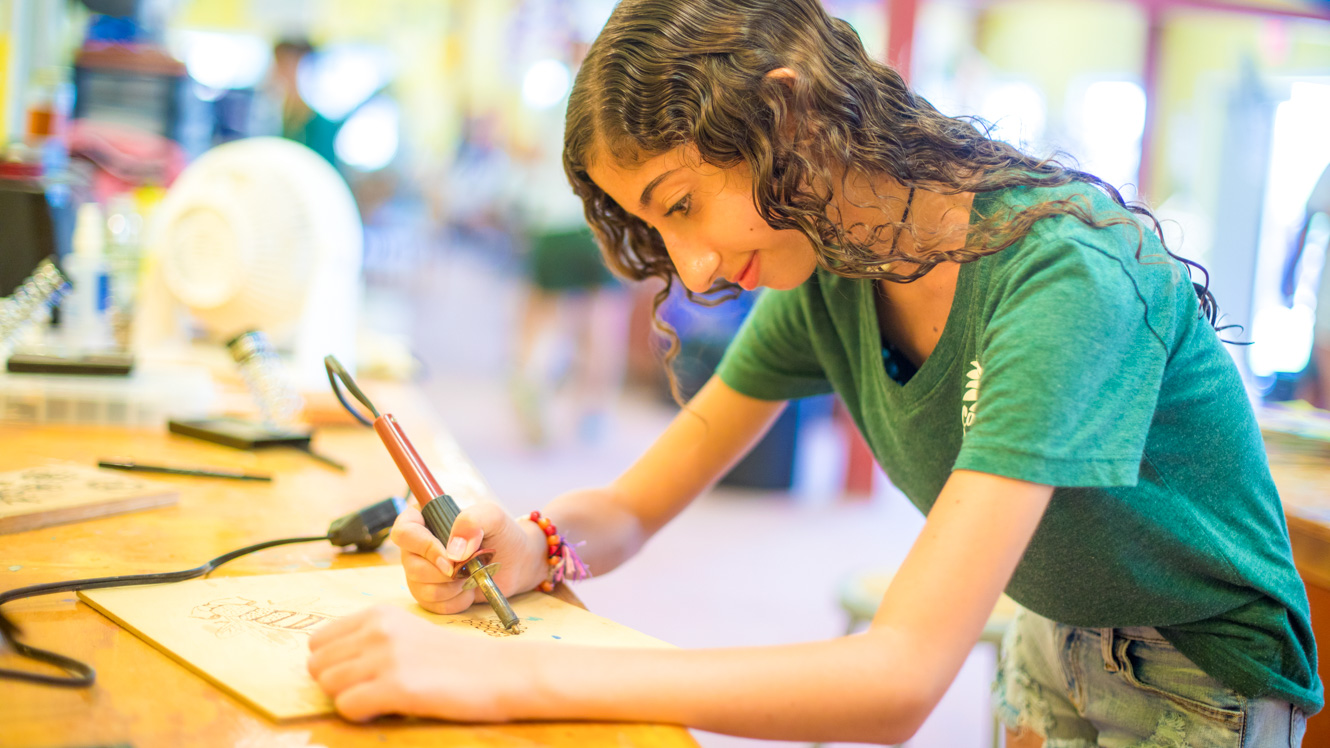
[[[762,293],[717,367],[721,381],[766,401],[831,391],[809,334],[807,286]]]

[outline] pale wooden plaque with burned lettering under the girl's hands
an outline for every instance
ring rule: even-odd
[[[226,576],[78,592],[88,604],[274,720],[332,713],[305,669],[310,634],[374,604],[398,606],[471,636],[600,647],[668,647],[543,592],[512,598],[523,632],[511,635],[485,604],[435,615],[415,603],[399,566]]]

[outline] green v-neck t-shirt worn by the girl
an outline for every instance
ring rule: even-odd
[[[1081,184],[976,196],[974,212],[1089,201]],[[942,339],[883,369],[874,281],[818,270],[766,291],[720,377],[762,399],[835,391],[927,512],[952,470],[1055,486],[1007,594],[1071,626],[1153,626],[1249,697],[1322,705],[1306,590],[1237,367],[1181,264],[1136,224],[1036,222],[962,265]]]

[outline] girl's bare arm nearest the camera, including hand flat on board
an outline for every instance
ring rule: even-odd
[[[712,651],[477,642],[375,608],[317,632],[310,672],[355,720],[624,720],[899,743],[955,679],[1051,496],[1048,486],[954,472],[857,636]]]

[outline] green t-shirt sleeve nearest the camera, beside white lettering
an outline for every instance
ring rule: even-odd
[[[1177,270],[1069,237],[1049,241],[1013,261],[990,306],[967,371],[955,468],[1049,486],[1134,486],[1170,347],[1148,315],[1172,302]],[[1138,277],[1146,273],[1149,282]]]

